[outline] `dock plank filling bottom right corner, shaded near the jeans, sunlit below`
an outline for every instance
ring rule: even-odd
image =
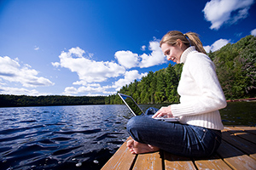
[[[256,161],[252,157],[226,142],[220,144],[217,153],[232,169],[256,169]]]

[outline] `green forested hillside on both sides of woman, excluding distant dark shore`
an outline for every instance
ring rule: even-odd
[[[218,80],[226,99],[256,96],[256,37],[247,36],[236,43],[228,43],[208,56],[216,66]],[[177,85],[183,64],[168,65],[160,71],[149,71],[141,81],[134,80],[119,90],[131,95],[140,104],[177,103]],[[106,104],[121,104],[117,94],[106,98]]]

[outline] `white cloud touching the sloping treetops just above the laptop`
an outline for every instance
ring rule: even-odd
[[[139,74],[137,70],[126,71],[125,72],[125,77],[120,78],[117,82],[114,82],[114,84],[111,88],[116,88],[116,91],[118,91],[120,88],[125,86],[125,84],[130,84],[135,79],[141,79],[142,77],[145,77],[147,75],[148,75],[148,72],[144,72],[142,74]]]

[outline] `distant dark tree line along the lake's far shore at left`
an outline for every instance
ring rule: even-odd
[[[16,106],[46,106],[46,105],[104,105],[105,96],[26,96],[26,95],[0,95],[0,107]]]

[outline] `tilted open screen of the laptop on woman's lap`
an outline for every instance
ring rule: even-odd
[[[127,105],[127,107],[135,116],[140,116],[141,114],[143,114],[143,111],[137,105],[134,99],[131,98],[131,96],[128,96],[125,94],[119,94],[119,97],[124,101],[125,105]]]

